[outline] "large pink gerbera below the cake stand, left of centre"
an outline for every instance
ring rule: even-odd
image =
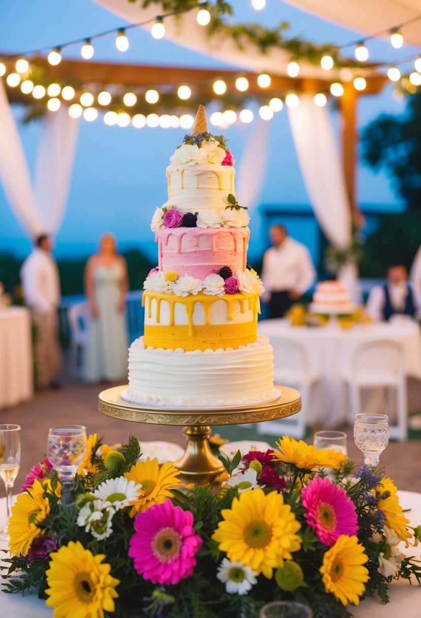
[[[194,533],[190,511],[165,500],[138,513],[135,530],[128,555],[144,579],[169,585],[193,574],[202,540]]]

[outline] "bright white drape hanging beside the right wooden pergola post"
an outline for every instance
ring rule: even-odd
[[[296,108],[288,108],[288,118],[316,219],[335,247],[346,248],[351,243],[351,208],[327,108],[302,95]]]

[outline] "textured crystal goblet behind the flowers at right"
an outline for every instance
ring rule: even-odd
[[[364,453],[364,464],[378,466],[380,454],[389,444],[387,414],[357,414],[354,423],[354,442]]]

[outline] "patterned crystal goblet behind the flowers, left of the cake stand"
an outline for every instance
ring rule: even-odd
[[[57,425],[48,432],[47,457],[59,473],[62,504],[73,504],[72,483],[86,449],[83,425]]]

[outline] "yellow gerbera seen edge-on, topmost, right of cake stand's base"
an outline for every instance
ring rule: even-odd
[[[286,464],[294,464],[297,468],[314,470],[314,468],[339,468],[338,457],[333,457],[331,451],[315,449],[311,444],[303,440],[299,442],[294,438],[284,436],[276,443],[280,452],[273,453],[273,459],[278,459]]]

